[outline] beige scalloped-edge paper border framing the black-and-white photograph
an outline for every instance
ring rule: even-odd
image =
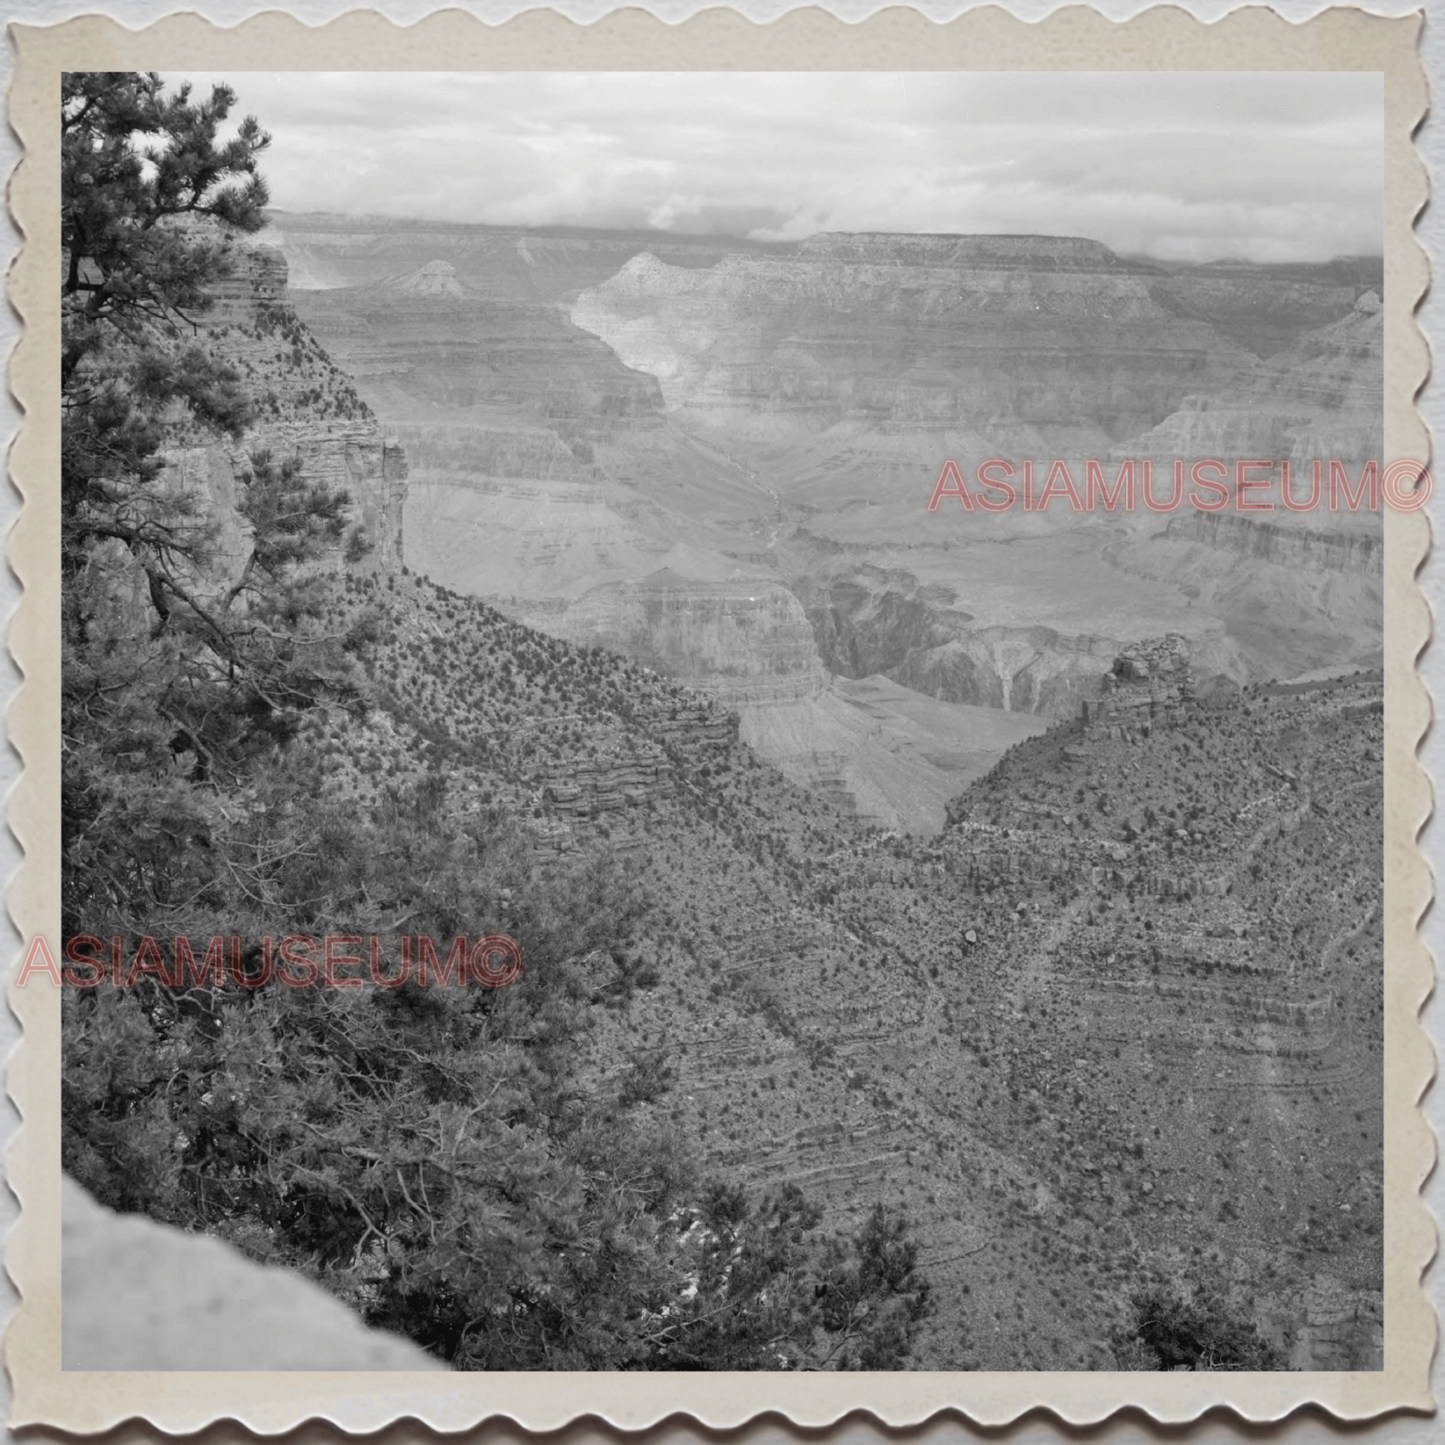
[[[176,16],[140,32],[103,17],[55,27],[13,26],[17,65],[10,118],[25,160],[12,181],[12,210],[25,246],[10,299],[25,324],[10,384],[26,420],[12,452],[25,497],[9,556],[25,585],[10,646],[25,685],[10,711],[25,777],[12,827],[26,861],[10,909],[29,942],[59,936],[59,269],[55,126],[62,69],[1355,69],[1384,74],[1386,98],[1386,457],[1426,458],[1428,436],[1413,397],[1428,354],[1413,321],[1428,267],[1410,224],[1425,201],[1425,172],[1410,144],[1423,114],[1425,78],[1416,58],[1419,17],[1384,19],[1335,10],[1305,25],[1273,12],[1235,12],[1204,26],[1160,7],[1127,25],[1075,7],[1026,25],[1000,10],[932,25],[915,12],[884,12],[842,25],[819,10],[754,26],[731,12],[707,12],[665,26],[643,12],[618,12],[581,27],[533,12],[491,27],[447,12],[399,29],[374,13],[353,13],[311,29],[267,14],[234,29]],[[105,1429],[144,1418],[192,1431],[230,1416],[275,1432],[321,1418],[376,1429],[419,1419],[460,1429],[493,1416],[555,1429],[582,1415],[640,1428],[675,1413],[733,1426],[763,1410],[799,1425],[824,1425],[866,1410],[887,1425],[941,1410],[1001,1425],[1045,1406],[1065,1420],[1100,1420],[1134,1405],[1162,1422],[1195,1419],[1230,1406],[1250,1420],[1276,1420],[1315,1402],[1342,1419],[1384,1410],[1429,1409],[1433,1312],[1420,1273],[1435,1247],[1419,1186],[1433,1163],[1433,1140],[1416,1103],[1433,1053],[1418,1023],[1431,987],[1431,959],[1416,923],[1431,897],[1429,870],[1415,838],[1431,793],[1415,750],[1429,701],[1415,659],[1429,614],[1415,572],[1429,545],[1423,512],[1386,513],[1386,1345],[1384,1370],[1357,1374],[851,1374],[851,1376],[610,1376],[454,1374],[360,1376],[312,1373],[77,1373],[59,1368],[59,996],[32,980],[10,990],[25,1026],[9,1075],[23,1124],[7,1175],[22,1221],[6,1263],[22,1295],[6,1335],[14,1399],[12,1425]]]

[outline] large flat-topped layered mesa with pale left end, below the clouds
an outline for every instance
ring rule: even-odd
[[[571,315],[714,426],[788,436],[864,415],[1087,455],[1247,357],[1160,303],[1165,279],[1087,240],[819,236],[707,270],[637,256]]]

